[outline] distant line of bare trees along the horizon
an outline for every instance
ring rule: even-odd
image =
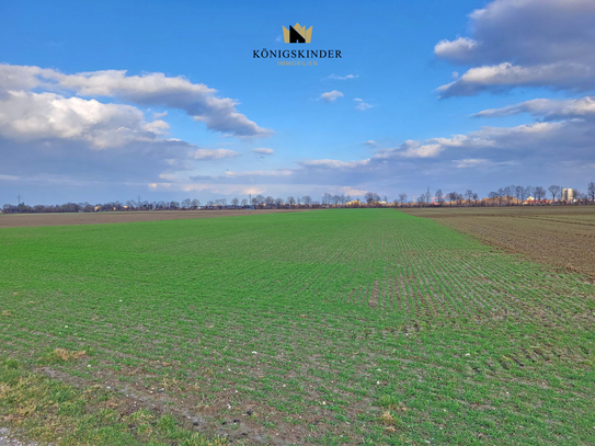
[[[488,197],[479,198],[472,190],[465,193],[456,191],[444,193],[438,188],[434,195],[430,188],[426,192],[409,199],[408,194],[399,194],[398,198],[389,202],[387,196],[380,197],[375,192],[367,192],[364,199],[352,198],[350,195],[333,195],[325,193],[320,201],[309,195],[288,196],[287,198],[273,198],[272,196],[256,195],[248,198],[234,197],[211,199],[202,204],[199,199],[185,198],[180,202],[147,202],[129,199],[126,203],[108,202],[92,205],[90,203],[66,203],[62,205],[18,205],[5,204],[3,214],[36,214],[36,213],[93,213],[93,211],[134,211],[134,210],[214,210],[214,209],[311,209],[328,207],[427,207],[427,206],[519,206],[519,205],[565,205],[565,204],[595,204],[595,183],[586,186],[586,193],[573,188],[573,197],[562,196],[563,188],[552,184],[547,190],[542,186],[508,185],[490,192]],[[529,197],[531,199],[529,199]]]

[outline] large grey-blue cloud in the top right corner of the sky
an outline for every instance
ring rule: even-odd
[[[440,41],[434,54],[472,65],[442,98],[550,87],[595,88],[595,2],[494,0],[470,14],[472,37]]]

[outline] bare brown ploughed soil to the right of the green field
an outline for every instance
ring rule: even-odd
[[[595,206],[402,209],[508,252],[595,279]]]

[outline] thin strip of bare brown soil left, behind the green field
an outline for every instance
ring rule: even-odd
[[[241,215],[296,213],[309,209],[230,209],[230,210],[147,210],[72,214],[0,214],[0,228],[35,226],[96,225],[112,222],[160,221],[188,218],[237,217]]]

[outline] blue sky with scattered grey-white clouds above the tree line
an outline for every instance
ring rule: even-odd
[[[279,3],[0,2],[0,205],[595,181],[593,0]]]

